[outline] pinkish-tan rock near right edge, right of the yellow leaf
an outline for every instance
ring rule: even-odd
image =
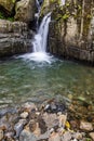
[[[80,121],[80,129],[85,130],[85,131],[92,131],[93,130],[93,126],[91,123],[88,121]]]

